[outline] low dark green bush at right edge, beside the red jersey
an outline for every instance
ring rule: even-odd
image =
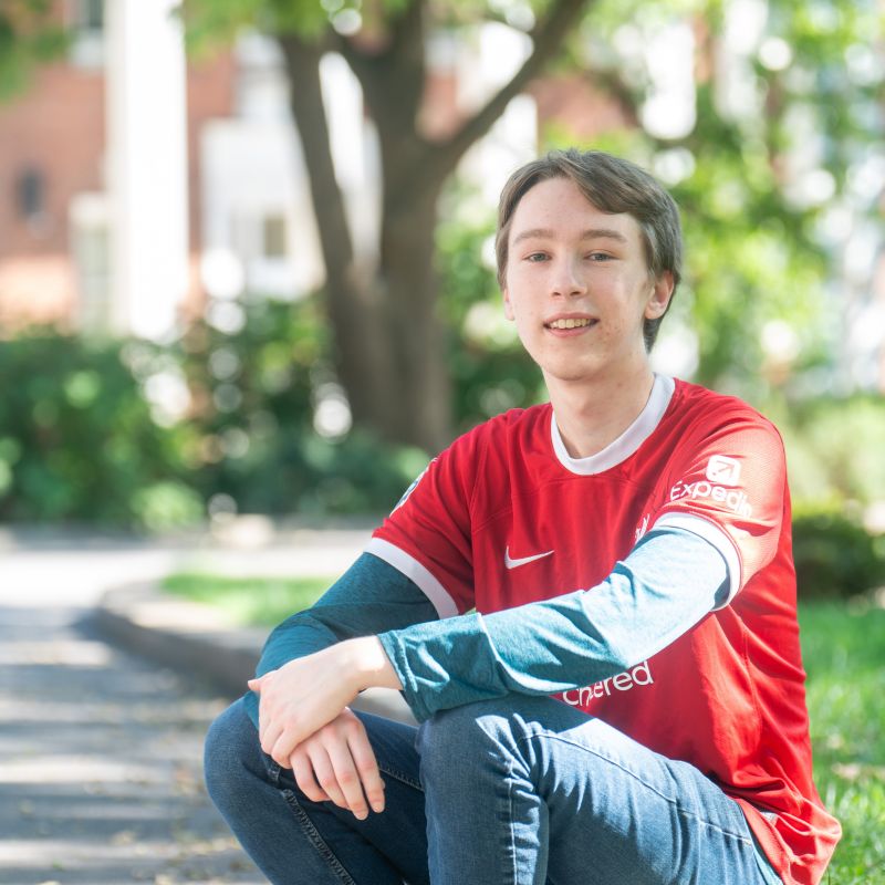
[[[851,597],[885,586],[885,537],[872,535],[839,504],[796,508],[793,561],[802,598]]]

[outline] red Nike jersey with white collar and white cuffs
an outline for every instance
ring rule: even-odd
[[[694,764],[740,803],[785,883],[816,883],[841,830],[812,781],[783,446],[749,406],[658,376],[636,421],[583,459],[550,405],[508,412],[436,458],[367,551],[446,617],[592,589],[660,525],[721,552],[728,600],[648,660],[560,697]]]

